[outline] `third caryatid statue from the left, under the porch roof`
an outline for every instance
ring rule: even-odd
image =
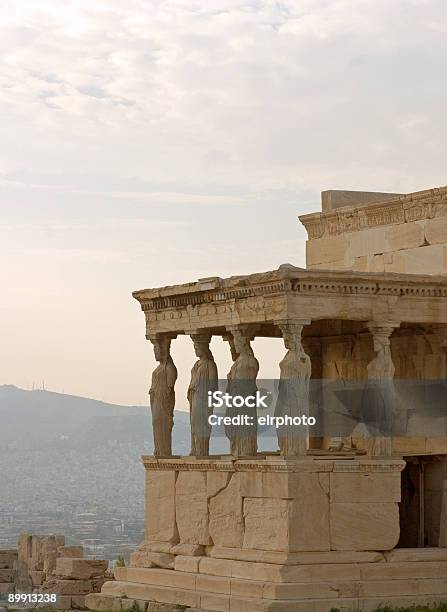
[[[250,346],[252,334],[242,326],[231,328],[231,333],[231,354],[235,361],[227,376],[227,393],[232,398],[256,395],[256,376],[259,371],[259,362],[253,355]],[[245,420],[244,424],[225,426],[225,434],[230,440],[231,454],[236,457],[256,456],[258,450],[256,407],[245,404],[240,407],[234,405],[227,407],[225,416],[237,417],[238,415]]]

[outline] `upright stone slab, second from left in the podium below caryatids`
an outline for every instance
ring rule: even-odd
[[[175,485],[177,529],[182,544],[211,544],[205,472],[180,472]]]

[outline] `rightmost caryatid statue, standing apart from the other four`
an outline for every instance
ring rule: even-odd
[[[368,389],[363,402],[362,420],[372,436],[368,440],[368,447],[373,456],[389,457],[392,454],[391,433],[395,427],[398,406],[393,385],[395,367],[391,357],[390,338],[399,325],[394,322],[368,323],[374,357],[367,365]]]

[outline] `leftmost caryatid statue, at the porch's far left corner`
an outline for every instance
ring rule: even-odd
[[[170,354],[171,339],[168,336],[150,338],[154,345],[155,359],[159,365],[152,373],[149,390],[154,434],[155,457],[172,455],[172,427],[174,426],[175,391],[177,368]]]

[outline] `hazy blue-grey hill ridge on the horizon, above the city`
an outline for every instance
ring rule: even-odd
[[[118,406],[53,391],[0,386],[0,447],[41,449],[95,447],[111,441],[132,442],[135,452],[151,453],[152,423],[145,406]],[[189,450],[189,415],[176,411],[173,446]]]

